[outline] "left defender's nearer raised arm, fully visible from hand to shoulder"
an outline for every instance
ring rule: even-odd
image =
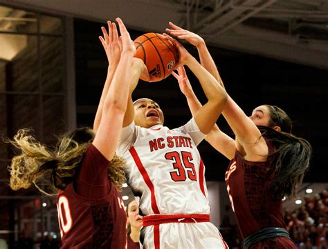
[[[122,52],[111,86],[104,97],[98,132],[92,142],[109,161],[113,159],[120,137],[122,121],[127,110],[129,85],[131,81],[138,81],[145,66],[140,59],[133,58],[136,49],[129,32],[121,19],[117,18],[116,21],[120,28]]]

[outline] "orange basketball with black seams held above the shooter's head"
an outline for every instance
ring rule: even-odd
[[[179,61],[176,46],[167,41],[163,34],[147,33],[134,40],[136,55],[147,66],[150,81],[167,78]]]

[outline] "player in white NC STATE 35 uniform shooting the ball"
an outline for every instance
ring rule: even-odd
[[[179,64],[199,79],[208,103],[184,126],[171,130],[163,126],[163,112],[155,101],[133,103],[129,98],[117,153],[127,161],[129,186],[140,197],[140,243],[155,249],[228,248],[210,223],[204,166],[197,150],[227,95],[180,43],[172,42],[179,48]]]

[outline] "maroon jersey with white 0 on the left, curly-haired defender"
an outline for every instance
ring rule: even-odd
[[[62,248],[126,248],[124,204],[108,177],[108,166],[91,144],[78,179],[58,195]]]

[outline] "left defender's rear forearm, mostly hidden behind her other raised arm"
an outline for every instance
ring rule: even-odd
[[[111,86],[111,81],[113,80],[113,75],[115,73],[117,66],[118,66],[117,63],[116,64],[112,63],[111,65],[109,65],[107,69],[107,77],[106,80],[104,81],[104,88],[102,88],[102,94],[100,97],[99,105],[97,108],[97,112],[95,113],[95,120],[93,121],[94,132],[97,132],[98,130],[99,123],[102,116],[102,108],[104,106],[104,100],[106,99],[107,92],[109,90],[109,87]]]

